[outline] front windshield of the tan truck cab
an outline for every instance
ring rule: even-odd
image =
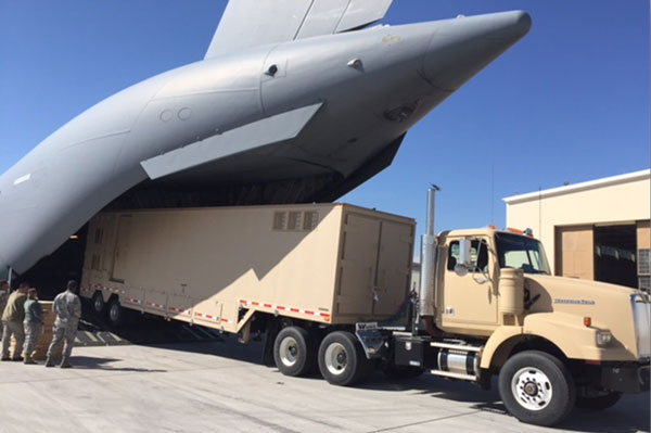
[[[520,268],[525,273],[551,275],[540,242],[509,233],[495,233],[495,239],[500,268]]]

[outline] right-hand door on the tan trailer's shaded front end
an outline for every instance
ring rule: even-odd
[[[393,316],[409,291],[413,227],[383,221],[380,234],[373,316]]]

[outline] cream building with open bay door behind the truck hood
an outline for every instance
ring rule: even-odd
[[[531,228],[554,275],[650,290],[650,170],[503,199],[507,226]]]

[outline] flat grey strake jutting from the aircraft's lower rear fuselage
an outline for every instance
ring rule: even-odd
[[[154,156],[140,163],[150,179],[196,167],[237,153],[295,138],[323,105],[319,102],[292,110],[219,136]]]

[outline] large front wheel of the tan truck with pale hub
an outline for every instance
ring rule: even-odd
[[[507,360],[499,373],[499,394],[511,415],[537,425],[561,422],[576,399],[574,380],[563,362],[539,351]]]

